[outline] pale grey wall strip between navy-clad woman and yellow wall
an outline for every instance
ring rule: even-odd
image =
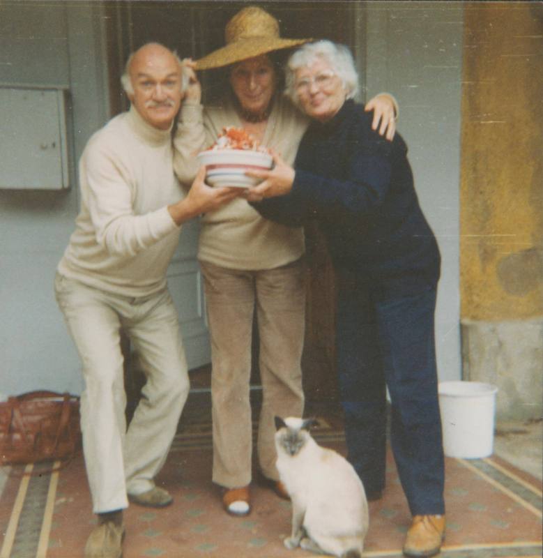
[[[368,2],[367,98],[392,92],[415,188],[441,250],[436,352],[441,380],[460,379],[459,160],[463,6],[457,2]]]

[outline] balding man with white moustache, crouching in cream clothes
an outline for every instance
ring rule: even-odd
[[[165,462],[189,382],[166,271],[182,223],[229,202],[199,172],[188,195],[174,176],[171,128],[183,97],[178,58],[150,43],[130,56],[128,112],[91,137],[80,165],[81,211],[59,263],[55,292],[82,359],[86,471],[98,525],[85,556],[120,557],[128,501],[162,507],[153,478]],[[120,329],[147,382],[128,431]]]

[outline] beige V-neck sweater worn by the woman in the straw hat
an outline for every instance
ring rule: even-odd
[[[263,145],[292,165],[307,128],[307,117],[278,97],[268,119]],[[231,103],[206,107],[185,103],[174,137],[174,167],[178,178],[190,183],[197,172],[196,154],[217,140],[224,126],[241,127]],[[243,198],[201,218],[198,258],[228,269],[261,270],[289,264],[303,255],[302,228],[273,223]]]

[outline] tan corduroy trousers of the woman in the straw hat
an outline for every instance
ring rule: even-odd
[[[257,454],[261,472],[277,480],[274,416],[302,416],[301,358],[305,333],[305,264],[261,271],[200,262],[211,334],[213,482],[238,488],[251,481],[250,375],[257,314],[262,407]]]

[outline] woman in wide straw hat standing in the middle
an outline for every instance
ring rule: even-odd
[[[183,182],[197,172],[195,153],[211,145],[222,128],[245,128],[261,144],[293,163],[307,118],[277,94],[275,52],[307,39],[286,39],[277,20],[261,8],[240,10],[225,30],[227,45],[197,61],[197,70],[227,68],[231,91],[218,106],[202,110],[194,72],[174,139],[174,165]],[[373,100],[376,126],[392,139],[395,105]],[[376,111],[377,112],[377,111]],[[200,131],[194,144],[194,130]],[[189,140],[192,138],[192,140]],[[259,468],[270,486],[287,497],[275,468],[274,416],[302,416],[301,356],[305,331],[303,229],[262,218],[243,197],[201,219],[198,259],[204,276],[211,333],[213,481],[224,489],[224,508],[250,512],[252,423],[250,371],[256,308],[263,402],[259,417]]]

